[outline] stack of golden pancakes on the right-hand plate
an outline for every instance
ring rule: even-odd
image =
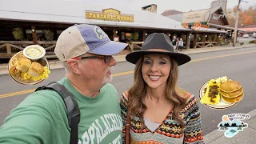
[[[243,98],[242,85],[237,81],[227,81],[219,86],[220,94],[225,102],[239,102]]]

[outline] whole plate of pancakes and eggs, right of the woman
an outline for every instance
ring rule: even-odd
[[[226,76],[204,83],[199,91],[200,102],[212,109],[235,106],[244,97],[242,85]]]

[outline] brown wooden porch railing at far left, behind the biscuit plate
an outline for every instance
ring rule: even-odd
[[[18,51],[23,50],[26,46],[33,45],[32,41],[0,41],[0,58],[11,58]],[[46,54],[50,54],[47,57],[55,58],[54,48],[56,46],[56,41],[39,41],[38,45],[46,49]]]

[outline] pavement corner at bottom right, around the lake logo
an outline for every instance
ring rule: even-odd
[[[206,144],[254,144],[256,143],[256,109],[250,111],[250,119],[245,119],[248,124],[247,128],[244,128],[238,134],[232,138],[226,138],[224,136],[225,131],[214,130],[210,134],[204,136],[204,142]],[[216,126],[217,127],[217,126]]]

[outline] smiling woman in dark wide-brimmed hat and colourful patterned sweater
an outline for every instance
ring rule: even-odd
[[[203,143],[197,99],[176,86],[178,66],[190,57],[154,33],[126,60],[136,66],[134,85],[122,94],[123,143]]]

